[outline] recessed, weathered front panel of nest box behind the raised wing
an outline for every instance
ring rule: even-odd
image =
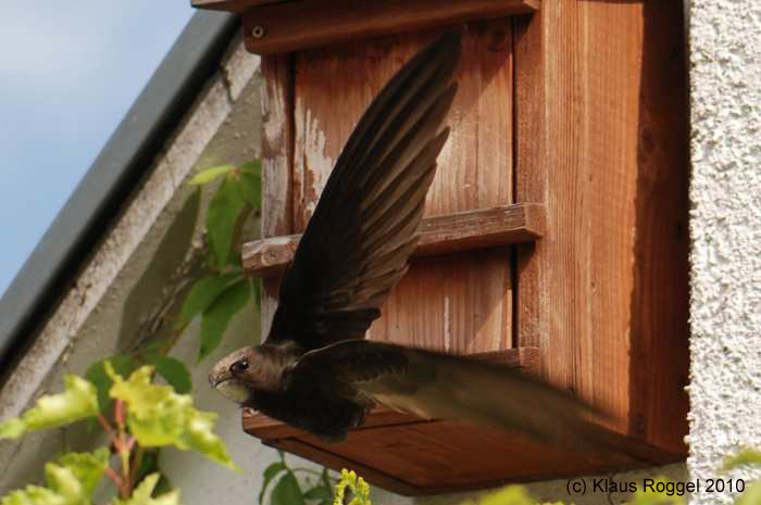
[[[452,132],[426,215],[512,202],[512,26],[469,26]],[[408,34],[302,51],[295,60],[296,231],[314,210],[340,149],[387,79],[437,33]],[[511,344],[512,286],[506,248],[414,261],[371,338],[453,352]]]

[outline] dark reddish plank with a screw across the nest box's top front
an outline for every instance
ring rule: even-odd
[[[528,14],[539,0],[301,0],[244,15],[246,49],[275,54],[459,23]]]

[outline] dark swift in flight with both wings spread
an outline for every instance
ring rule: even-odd
[[[588,407],[513,369],[363,340],[415,247],[460,52],[461,33],[442,36],[365,111],[284,274],[266,340],[210,371],[220,393],[327,441],[345,439],[375,404],[552,442],[596,441]]]

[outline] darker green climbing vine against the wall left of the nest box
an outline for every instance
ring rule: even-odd
[[[220,180],[221,179],[221,180]],[[252,161],[240,166],[222,165],[198,173],[190,186],[211,186],[216,189],[209,203],[205,222],[203,275],[192,279],[169,338],[149,340],[130,352],[108,356],[93,363],[85,377],[98,390],[103,412],[110,412],[108,391],[111,387],[103,363],[109,361],[118,374],[129,375],[142,365],[151,365],[155,373],[179,393],[191,390],[190,373],[182,361],[167,353],[195,317],[201,318],[198,358],[201,362],[222,342],[229,321],[253,296],[260,303],[261,285],[244,274],[240,256],[242,225],[261,207],[261,163]]]

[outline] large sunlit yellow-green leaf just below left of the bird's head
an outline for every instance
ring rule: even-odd
[[[237,469],[222,439],[211,431],[216,414],[194,408],[189,394],[177,394],[169,386],[151,383],[151,366],[138,368],[127,380],[116,375],[109,364],[107,370],[114,381],[111,397],[126,404],[127,426],[140,445],[172,444],[182,450],[190,449]]]

